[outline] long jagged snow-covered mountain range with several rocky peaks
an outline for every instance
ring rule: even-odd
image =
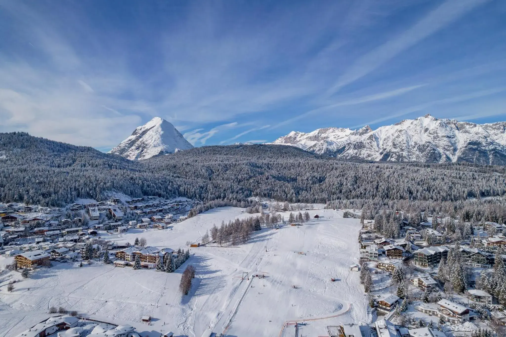
[[[506,122],[476,124],[431,115],[376,130],[324,128],[290,132],[271,144],[346,159],[506,164]]]

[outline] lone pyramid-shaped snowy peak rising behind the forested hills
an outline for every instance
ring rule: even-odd
[[[174,125],[161,117],[154,117],[136,128],[129,138],[109,153],[119,154],[130,160],[141,160],[191,148],[193,145],[188,143]]]

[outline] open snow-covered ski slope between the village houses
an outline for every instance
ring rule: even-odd
[[[174,224],[168,230],[131,230],[111,240],[173,249],[200,242],[214,224],[250,215],[223,207]],[[325,335],[326,326],[369,323],[367,297],[359,273],[358,219],[344,219],[340,210],[308,211],[311,220],[255,232],[246,244],[216,243],[191,248],[191,258],[175,273],[133,270],[93,262],[55,263],[29,278],[4,271],[0,283],[0,337],[16,335],[50,316],[51,307],[76,310],[88,317],[137,328],[143,336],[174,331],[175,335],[227,336]],[[296,212],[295,212],[296,213]],[[288,219],[288,212],[280,213]],[[319,219],[314,219],[314,215]],[[258,214],[257,214],[258,215]],[[107,238],[106,238],[107,239]],[[12,258],[0,257],[6,265]],[[178,290],[186,265],[196,267],[188,296]],[[3,269],[3,268],[2,268]],[[247,272],[247,276],[245,273]],[[262,276],[258,277],[256,275]],[[11,279],[15,290],[7,291]],[[331,278],[335,281],[331,281]],[[151,325],[141,322],[151,316]]]

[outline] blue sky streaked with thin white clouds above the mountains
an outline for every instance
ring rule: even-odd
[[[0,0],[0,132],[108,150],[506,120],[506,2]]]

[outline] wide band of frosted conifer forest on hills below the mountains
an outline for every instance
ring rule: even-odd
[[[210,201],[251,196],[289,202],[339,199],[456,201],[502,196],[503,166],[352,162],[282,145],[194,148],[141,160],[89,147],[0,134],[0,198],[60,205],[76,198],[186,196]]]

